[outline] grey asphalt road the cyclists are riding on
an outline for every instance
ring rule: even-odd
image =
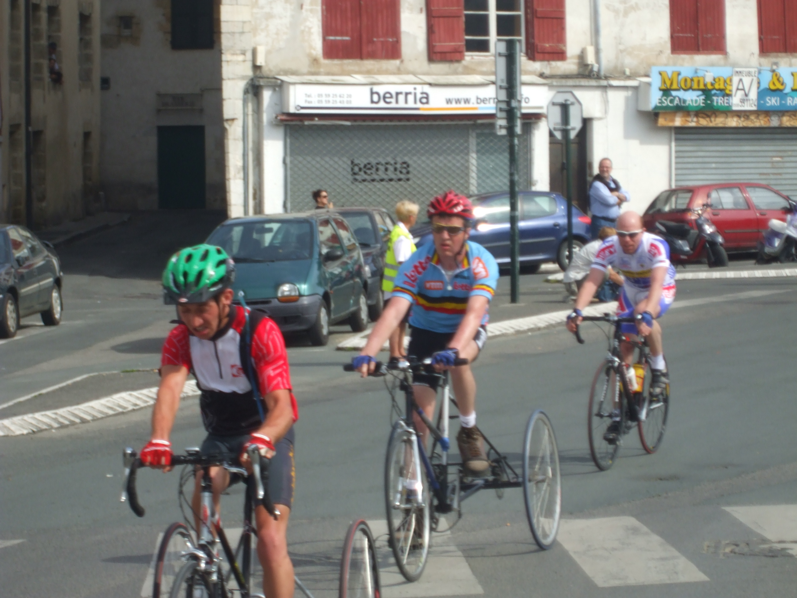
[[[78,372],[157,363],[169,310],[155,297],[122,298],[155,294],[157,280],[125,278],[122,289],[99,277],[113,305],[94,308],[91,301],[104,301],[95,298],[97,277],[82,275],[82,284],[68,287],[75,294],[67,294],[65,312],[77,323],[67,320],[57,331],[29,332],[0,345],[4,396]],[[684,281],[676,305],[664,320],[673,408],[662,448],[645,455],[629,436],[618,463],[605,473],[591,464],[585,425],[589,384],[605,350],[601,332],[585,329],[583,346],[563,329],[490,340],[475,366],[479,425],[516,456],[532,411],[540,407],[551,416],[563,468],[559,542],[547,553],[536,549],[520,490],[507,490],[502,500],[485,491],[465,502],[450,537],[434,538],[453,550],[430,560],[422,582],[393,585],[384,595],[793,592],[791,544],[769,544],[784,540],[771,537],[772,521],[787,532],[795,529],[785,540],[797,541],[797,509],[774,507],[797,503],[797,349],[788,328],[795,281]],[[120,350],[126,346],[133,349]],[[300,340],[289,348],[300,403],[289,540],[297,574],[316,596],[336,596],[348,522],[366,517],[378,528],[384,517],[389,401],[381,381],[341,371],[347,357]],[[175,474],[139,475],[143,519],[118,502],[121,450],[146,441],[148,419],[146,410],[136,411],[0,439],[4,596],[141,596],[155,538],[179,518]],[[186,399],[173,443],[195,446],[201,439],[196,401]],[[234,526],[239,504],[235,491],[225,499],[226,525]],[[752,510],[733,509],[738,506]],[[379,546],[387,564],[383,537]],[[589,547],[599,549],[597,566]],[[773,550],[777,557],[759,556]],[[454,561],[465,568],[450,566]],[[658,570],[662,563],[677,566]],[[454,569],[459,579],[447,580]],[[386,578],[395,581],[389,572]]]

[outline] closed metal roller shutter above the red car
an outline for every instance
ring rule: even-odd
[[[676,128],[675,184],[765,183],[797,198],[797,129]]]

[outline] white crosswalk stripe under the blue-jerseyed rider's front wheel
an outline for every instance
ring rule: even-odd
[[[379,580],[385,598],[420,598],[420,596],[472,596],[484,594],[468,561],[453,543],[451,532],[431,533],[426,568],[421,579],[410,583],[395,564],[393,551],[387,546],[387,521],[368,521],[376,541],[379,558]]]

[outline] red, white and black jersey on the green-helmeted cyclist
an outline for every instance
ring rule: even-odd
[[[180,324],[163,343],[161,365],[183,365],[194,372],[202,391],[200,407],[207,431],[218,435],[245,434],[260,427],[260,413],[252,386],[243,367],[241,335],[246,324],[244,310],[233,305],[230,320],[210,340],[201,340]],[[269,317],[249,312],[253,326],[251,363],[261,396],[277,390],[292,390],[282,332]],[[291,392],[293,421],[299,418]],[[266,410],[263,405],[264,412]]]

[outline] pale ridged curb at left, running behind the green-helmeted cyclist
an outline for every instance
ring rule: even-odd
[[[186,382],[181,398],[198,395],[199,389],[194,380]],[[158,387],[144,388],[140,391],[117,392],[116,395],[104,399],[80,403],[73,407],[62,407],[52,411],[39,411],[28,415],[18,415],[8,419],[0,419],[0,436],[21,436],[59,427],[72,426],[75,423],[92,422],[111,415],[127,413],[155,404]]]

